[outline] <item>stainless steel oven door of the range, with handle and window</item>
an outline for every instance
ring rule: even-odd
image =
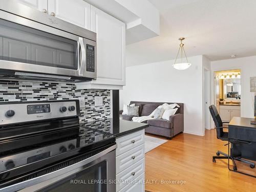
[[[115,148],[116,144],[86,160],[1,191],[113,192],[116,190]]]

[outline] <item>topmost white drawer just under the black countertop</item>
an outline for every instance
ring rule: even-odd
[[[144,130],[125,135],[116,139],[116,156],[121,155],[132,148],[144,143]]]

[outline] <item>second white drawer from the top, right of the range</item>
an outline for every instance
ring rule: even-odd
[[[130,167],[145,156],[144,144],[133,148],[116,157],[116,173]]]

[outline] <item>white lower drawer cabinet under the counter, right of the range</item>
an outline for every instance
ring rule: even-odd
[[[117,138],[116,191],[145,190],[144,130]]]

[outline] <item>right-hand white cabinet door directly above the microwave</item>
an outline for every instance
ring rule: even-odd
[[[83,0],[48,0],[48,13],[91,30],[91,5]]]

